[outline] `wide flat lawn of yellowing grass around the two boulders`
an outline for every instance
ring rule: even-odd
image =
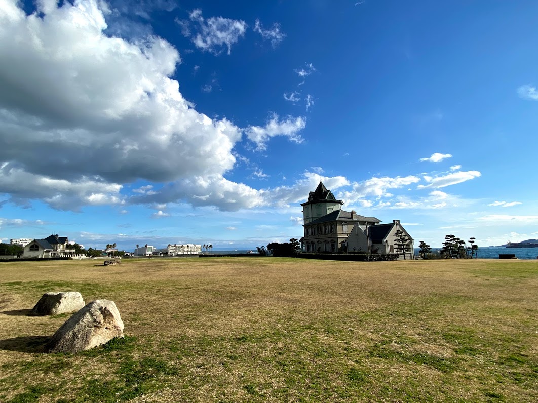
[[[178,258],[0,263],[0,401],[538,401],[538,262]],[[44,354],[47,291],[125,338]]]

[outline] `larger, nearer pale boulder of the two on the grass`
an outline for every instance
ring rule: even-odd
[[[96,299],[56,330],[48,352],[79,352],[123,337],[123,322],[114,301]]]

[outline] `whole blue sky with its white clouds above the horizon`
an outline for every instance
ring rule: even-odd
[[[0,1],[0,238],[538,238],[535,1]]]

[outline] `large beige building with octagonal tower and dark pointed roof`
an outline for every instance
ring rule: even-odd
[[[365,217],[355,211],[344,211],[344,203],[337,200],[323,183],[310,192],[303,206],[304,236],[302,250],[318,253],[360,252],[392,254],[400,253],[396,242],[397,231],[408,241],[406,258],[414,259],[413,239],[401,226],[399,220],[392,224],[380,224],[376,217]]]

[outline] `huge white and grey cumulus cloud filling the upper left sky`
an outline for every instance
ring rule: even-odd
[[[15,203],[119,204],[124,183],[218,177],[235,165],[243,130],[181,95],[170,78],[180,55],[167,41],[109,37],[103,4],[47,2],[37,16],[0,2],[0,193]],[[260,141],[279,134],[270,126]]]

